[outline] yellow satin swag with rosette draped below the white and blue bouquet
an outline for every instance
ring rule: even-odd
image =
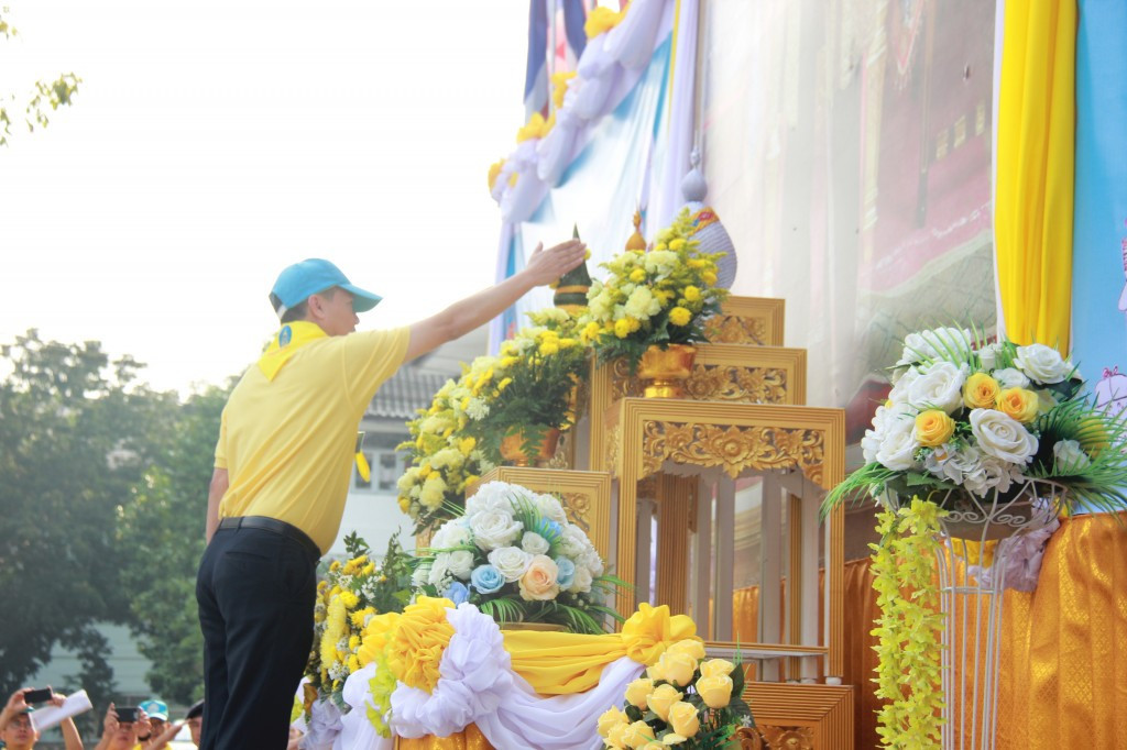
[[[622,657],[639,663],[657,661],[666,648],[696,639],[696,625],[685,615],[669,615],[665,605],[642,602],[621,633],[582,635],[502,631],[513,671],[540,695],[584,693],[598,684],[603,668]],[[699,640],[699,639],[698,639]]]

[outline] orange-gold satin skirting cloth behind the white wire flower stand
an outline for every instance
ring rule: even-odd
[[[1062,520],[1045,551],[1037,590],[1005,593],[999,750],[1127,748],[1127,514],[1118,518]],[[880,702],[871,681],[876,639],[869,633],[878,608],[869,562],[845,563],[844,577],[851,605],[843,623],[843,681],[859,690],[853,724],[859,750],[879,747]],[[736,624],[749,619],[740,605],[756,599],[757,591],[736,591]],[[968,615],[973,623],[973,608]],[[967,643],[974,648],[974,637]]]

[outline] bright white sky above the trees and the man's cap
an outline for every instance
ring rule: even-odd
[[[295,260],[384,295],[361,329],[492,282],[527,3],[3,2],[0,92],[83,83],[0,149],[0,342],[100,340],[186,390],[254,359]]]

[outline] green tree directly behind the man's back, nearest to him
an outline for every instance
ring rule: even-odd
[[[125,507],[121,543],[135,553],[122,571],[134,592],[132,628],[152,662],[152,689],[192,703],[203,696],[203,636],[195,580],[220,414],[229,389],[193,395],[177,412],[167,453],[157,456]]]

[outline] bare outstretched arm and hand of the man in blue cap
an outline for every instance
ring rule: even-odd
[[[530,289],[550,284],[582,264],[586,250],[587,245],[579,240],[569,240],[550,250],[544,250],[542,243],[536,245],[524,270],[411,325],[405,360],[420,357],[492,320]]]

